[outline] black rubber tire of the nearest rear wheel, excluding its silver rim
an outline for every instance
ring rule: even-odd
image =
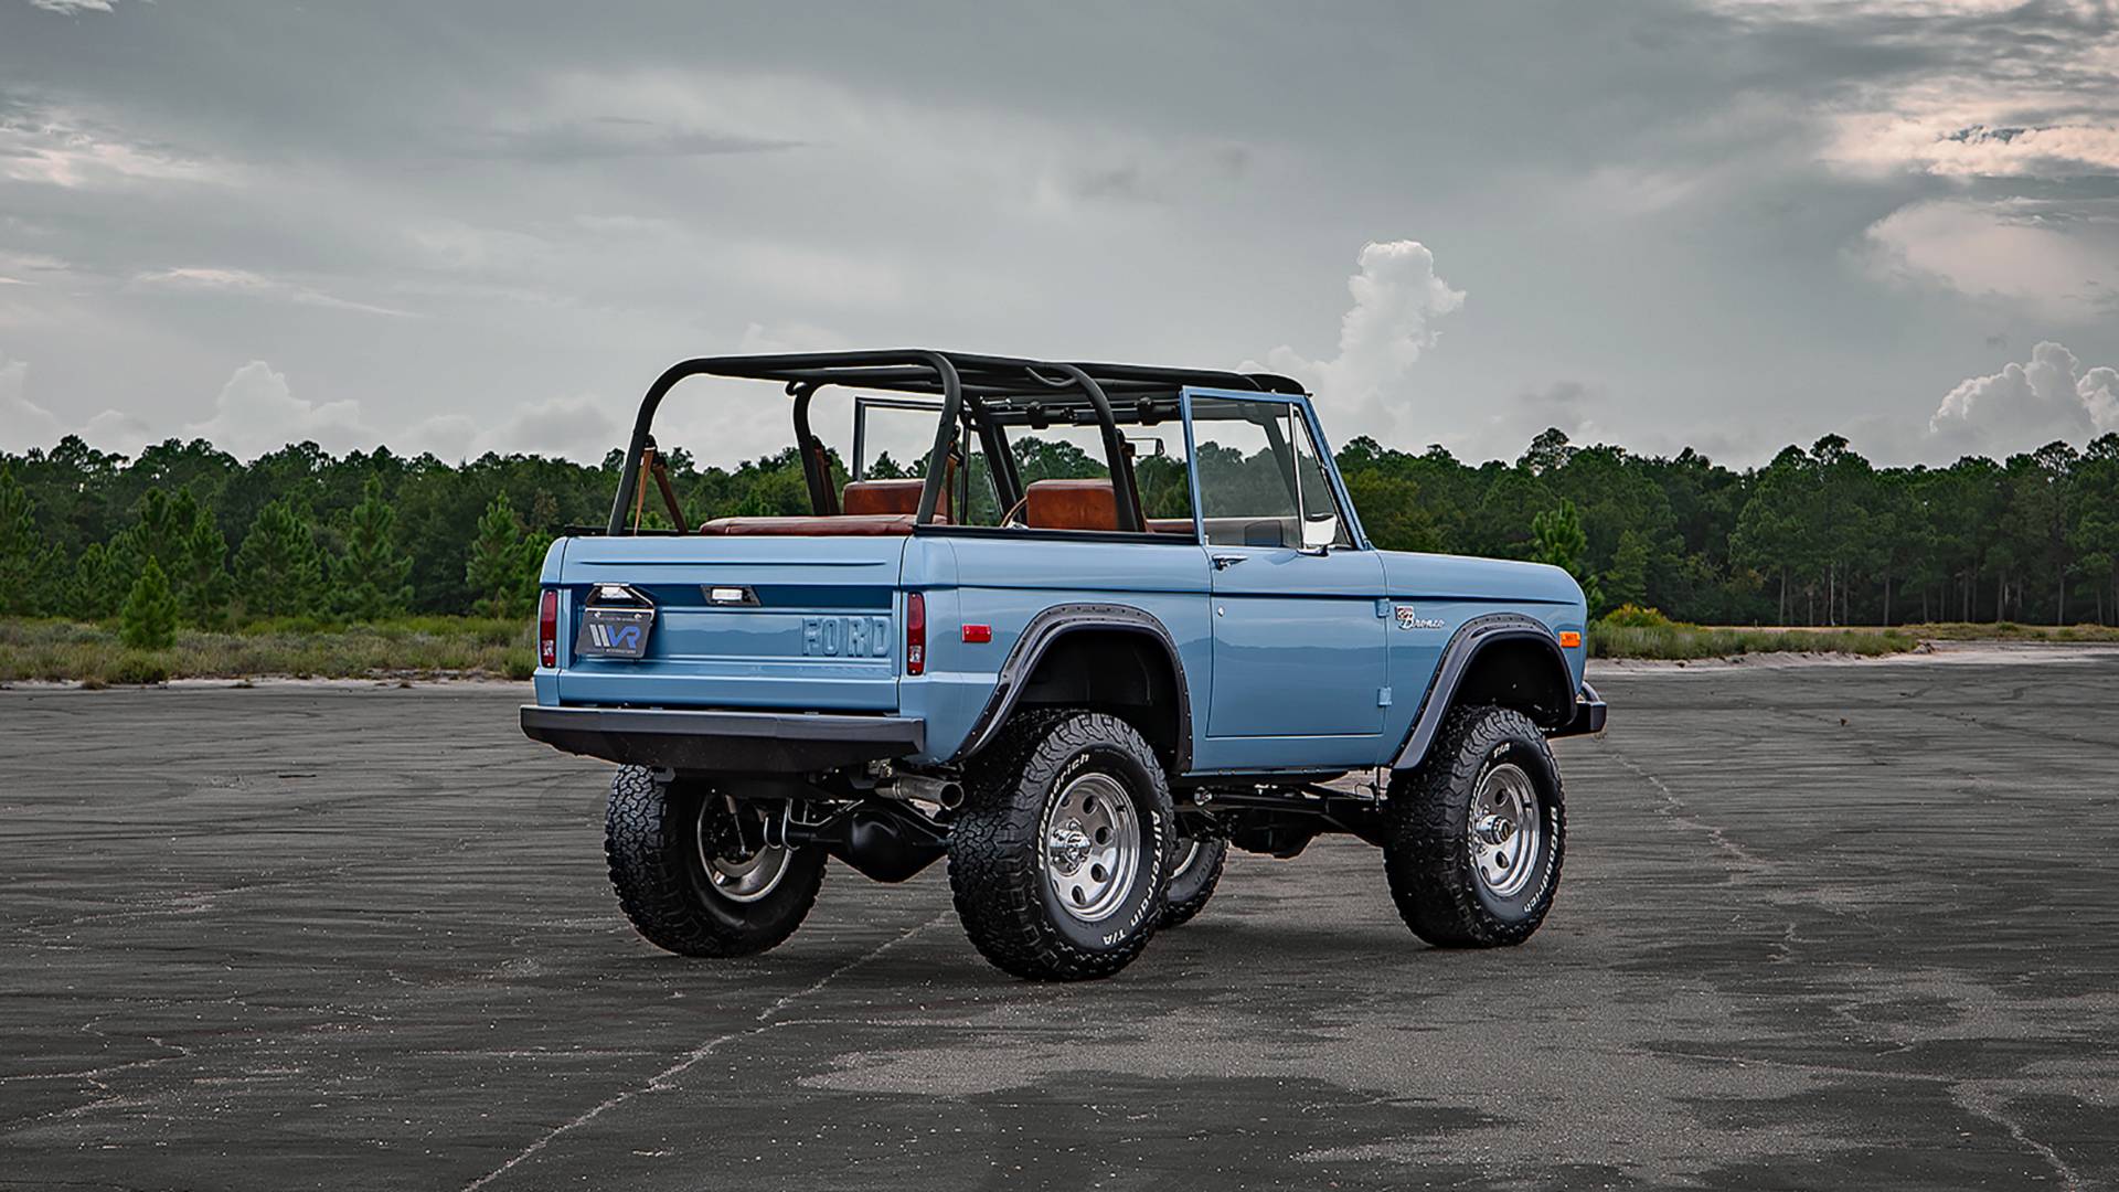
[[[1119,783],[1140,857],[1117,908],[1083,923],[1057,904],[1045,865],[1047,806],[1085,774]],[[1119,717],[1034,711],[1002,728],[964,774],[949,827],[949,889],[979,954],[1028,980],[1104,978],[1140,954],[1163,914],[1176,817],[1148,742]]]

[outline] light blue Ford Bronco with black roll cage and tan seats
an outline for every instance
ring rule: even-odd
[[[807,515],[687,524],[651,435],[687,378],[784,388]],[[867,458],[884,418],[911,467]],[[619,764],[619,904],[689,957],[786,940],[826,857],[947,857],[985,959],[1100,978],[1199,914],[1231,844],[1322,831],[1384,851],[1415,935],[1488,948],[1560,884],[1547,740],[1604,728],[1585,628],[1560,568],[1369,545],[1288,378],[714,356],[648,390],[604,532],[545,556],[521,728]]]

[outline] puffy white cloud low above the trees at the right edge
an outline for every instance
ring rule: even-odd
[[[2119,369],[2083,367],[2064,346],[2043,341],[2028,363],[1966,378],[1928,418],[1928,437],[1962,452],[2009,454],[2119,431]]]

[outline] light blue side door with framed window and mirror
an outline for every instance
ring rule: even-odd
[[[1210,738],[1233,766],[1363,764],[1384,728],[1384,566],[1356,545],[1297,401],[1187,392],[1201,543],[1212,564]],[[1331,738],[1331,740],[1326,740]]]

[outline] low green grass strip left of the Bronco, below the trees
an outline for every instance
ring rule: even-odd
[[[163,683],[167,679],[528,679],[536,628],[513,617],[403,617],[384,624],[259,621],[229,632],[178,630],[172,649],[136,651],[114,624],[0,619],[0,683],[25,679]]]

